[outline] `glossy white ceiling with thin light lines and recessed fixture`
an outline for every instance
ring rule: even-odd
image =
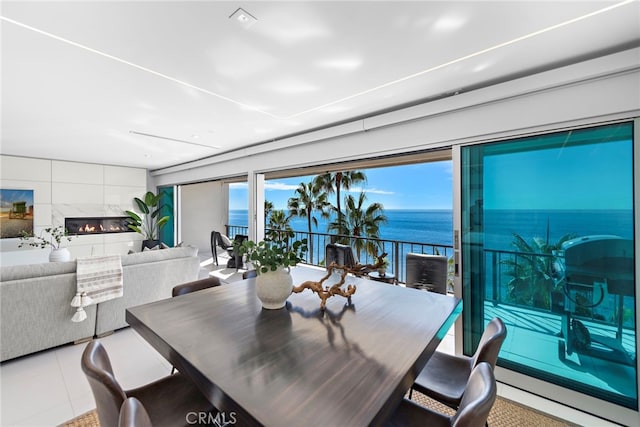
[[[640,44],[638,1],[3,1],[0,16],[2,154],[148,169]]]

